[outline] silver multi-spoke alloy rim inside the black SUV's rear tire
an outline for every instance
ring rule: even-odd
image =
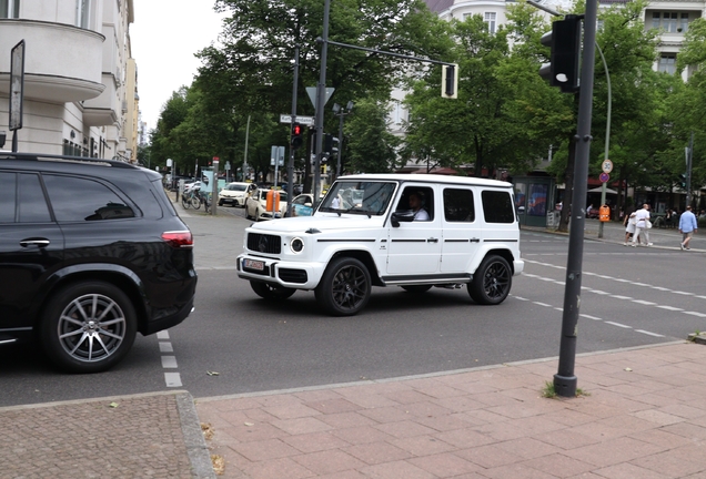
[[[88,294],[73,299],[57,324],[59,343],[73,359],[101,361],[118,350],[125,338],[125,316],[113,299]]]

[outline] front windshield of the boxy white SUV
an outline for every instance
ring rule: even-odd
[[[324,197],[320,212],[383,215],[397,184],[337,181]]]

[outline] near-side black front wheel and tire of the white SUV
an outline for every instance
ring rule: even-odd
[[[372,283],[363,263],[352,257],[332,259],[314,289],[319,305],[332,316],[353,316],[367,300]]]

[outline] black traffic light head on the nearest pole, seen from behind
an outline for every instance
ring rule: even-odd
[[[552,23],[552,31],[542,35],[542,44],[552,49],[549,63],[539,68],[539,77],[559,86],[564,93],[578,90],[581,63],[581,17],[565,16]]]

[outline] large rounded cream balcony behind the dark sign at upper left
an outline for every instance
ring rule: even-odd
[[[101,94],[103,41],[91,30],[64,23],[0,19],[0,94],[10,93],[10,50],[24,40],[24,98],[51,103]]]

